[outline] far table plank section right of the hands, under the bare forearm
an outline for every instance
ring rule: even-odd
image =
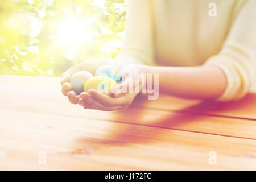
[[[220,117],[241,118],[256,120],[256,94],[247,94],[240,101],[230,102],[203,102],[196,100],[183,100],[180,98],[160,95],[158,100],[138,98],[134,104],[153,110],[176,111],[179,113],[204,114]],[[174,104],[172,104],[174,103]]]

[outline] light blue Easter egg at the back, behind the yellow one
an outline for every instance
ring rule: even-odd
[[[111,65],[104,65],[99,67],[95,72],[95,76],[106,76],[112,78],[117,83],[122,80],[121,73],[118,71],[118,69]]]

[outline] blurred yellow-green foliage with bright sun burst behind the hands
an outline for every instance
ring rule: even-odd
[[[125,0],[1,0],[0,74],[60,76],[114,58],[125,17]]]

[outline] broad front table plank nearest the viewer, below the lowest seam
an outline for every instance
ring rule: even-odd
[[[31,111],[0,114],[0,169],[256,169],[251,139]],[[38,164],[39,151],[46,165]],[[216,165],[208,163],[209,151],[216,151]]]

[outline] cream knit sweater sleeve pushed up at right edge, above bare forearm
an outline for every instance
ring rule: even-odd
[[[239,100],[255,85],[256,1],[249,0],[233,22],[218,55],[204,65],[216,66],[225,73],[227,85],[218,101]]]

